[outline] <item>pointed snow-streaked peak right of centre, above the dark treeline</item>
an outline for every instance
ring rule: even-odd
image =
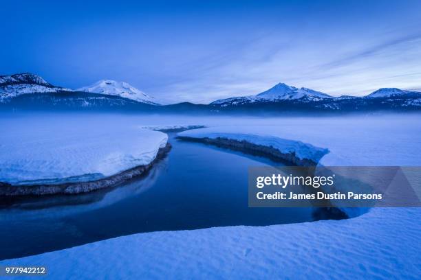
[[[320,91],[313,91],[312,89],[301,88],[298,89],[295,86],[288,86],[287,84],[279,83],[273,86],[263,93],[257,95],[243,96],[243,97],[231,97],[224,100],[216,100],[211,105],[224,104],[238,105],[248,104],[255,102],[280,102],[282,100],[303,100],[305,102],[332,99],[334,97],[322,93]]]

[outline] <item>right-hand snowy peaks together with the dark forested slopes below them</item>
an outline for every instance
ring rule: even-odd
[[[379,89],[364,97],[332,97],[320,91],[286,84],[257,95],[231,97],[209,104],[215,111],[268,112],[362,112],[374,110],[420,110],[421,93],[401,89]]]

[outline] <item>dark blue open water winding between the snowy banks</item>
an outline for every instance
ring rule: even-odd
[[[147,176],[78,196],[1,201],[0,259],[111,237],[213,226],[264,226],[338,218],[323,209],[248,208],[247,170],[280,165],[171,138],[173,149]]]

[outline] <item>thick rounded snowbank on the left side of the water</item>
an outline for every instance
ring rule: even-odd
[[[103,178],[151,163],[166,141],[166,134],[136,126],[10,128],[0,135],[0,181],[21,185]]]

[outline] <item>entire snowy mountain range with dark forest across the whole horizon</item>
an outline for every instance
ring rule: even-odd
[[[0,76],[0,108],[13,110],[133,110],[158,113],[354,113],[421,110],[421,93],[378,89],[364,97],[333,97],[279,83],[257,95],[231,97],[210,104],[161,105],[126,82],[100,80],[77,90],[46,82],[38,75]]]

